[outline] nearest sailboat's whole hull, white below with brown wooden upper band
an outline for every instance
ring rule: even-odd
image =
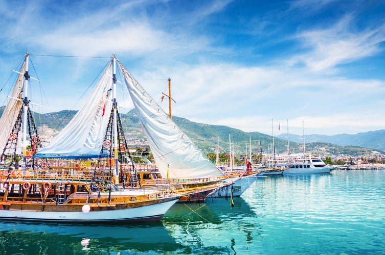
[[[0,208],[1,220],[44,222],[118,222],[157,221],[178,200],[178,197],[112,205],[89,205],[90,211],[83,213],[84,205],[32,205],[11,203]]]

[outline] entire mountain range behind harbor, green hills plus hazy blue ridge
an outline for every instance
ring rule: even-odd
[[[0,107],[0,114],[3,114],[4,106]],[[47,132],[49,127],[49,135],[40,134],[42,140],[50,139],[57,134],[58,131],[62,130],[63,127],[72,119],[77,111],[64,110],[60,112],[52,112],[46,114],[34,114],[35,124],[40,130],[39,132]],[[173,121],[186,133],[187,136],[193,141],[193,143],[202,150],[205,154],[208,152],[215,152],[217,146],[217,139],[219,138],[219,151],[229,152],[229,135],[231,136],[232,142],[234,142],[234,149],[236,154],[245,154],[250,150],[250,139],[252,140],[252,151],[253,153],[263,152],[271,153],[271,145],[273,138],[269,135],[262,134],[259,132],[243,132],[238,129],[234,129],[224,125],[210,125],[203,123],[192,122],[188,119],[173,116]],[[121,114],[121,120],[123,130],[128,143],[146,143],[146,137],[143,133],[142,126],[135,113],[135,110],[130,110],[127,114]],[[45,128],[44,128],[45,127]],[[372,134],[376,134],[379,137],[373,138]],[[366,134],[366,136],[365,136]],[[357,134],[358,135],[358,134]],[[339,144],[349,144],[348,139],[344,139],[344,136],[349,137],[350,141],[360,141],[360,146],[349,145],[343,146]],[[336,136],[323,136],[323,135],[309,135],[305,137],[306,150],[319,156],[329,155],[350,155],[350,156],[362,156],[367,155],[368,157],[372,154],[373,149],[382,150],[385,148],[385,130],[378,132],[360,133],[359,138],[354,138],[355,135],[336,135]],[[338,139],[333,140],[332,138],[337,137]],[[282,139],[280,139],[282,138]],[[289,135],[290,151],[292,153],[298,153],[303,150],[302,148],[302,136]],[[323,138],[324,140],[322,140]],[[329,140],[325,140],[330,138]],[[373,143],[377,141],[377,143]],[[383,141],[383,142],[381,142]],[[339,144],[337,144],[339,143]],[[287,138],[286,135],[280,135],[275,137],[275,148],[276,154],[286,154],[287,151]],[[373,146],[371,146],[373,145]],[[374,146],[376,145],[376,146]],[[258,148],[258,149],[257,149]],[[270,149],[270,151],[268,150]],[[385,154],[384,151],[380,151]]]

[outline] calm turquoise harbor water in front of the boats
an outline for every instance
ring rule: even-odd
[[[385,170],[258,178],[161,222],[1,222],[0,254],[385,254]]]

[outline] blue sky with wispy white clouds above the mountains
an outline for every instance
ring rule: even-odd
[[[275,135],[286,120],[299,135],[303,122],[305,134],[385,129],[382,0],[0,0],[0,25],[2,105],[26,52],[38,112],[78,109],[116,54],[166,111],[171,78],[173,115],[192,121],[268,135],[271,119]]]

